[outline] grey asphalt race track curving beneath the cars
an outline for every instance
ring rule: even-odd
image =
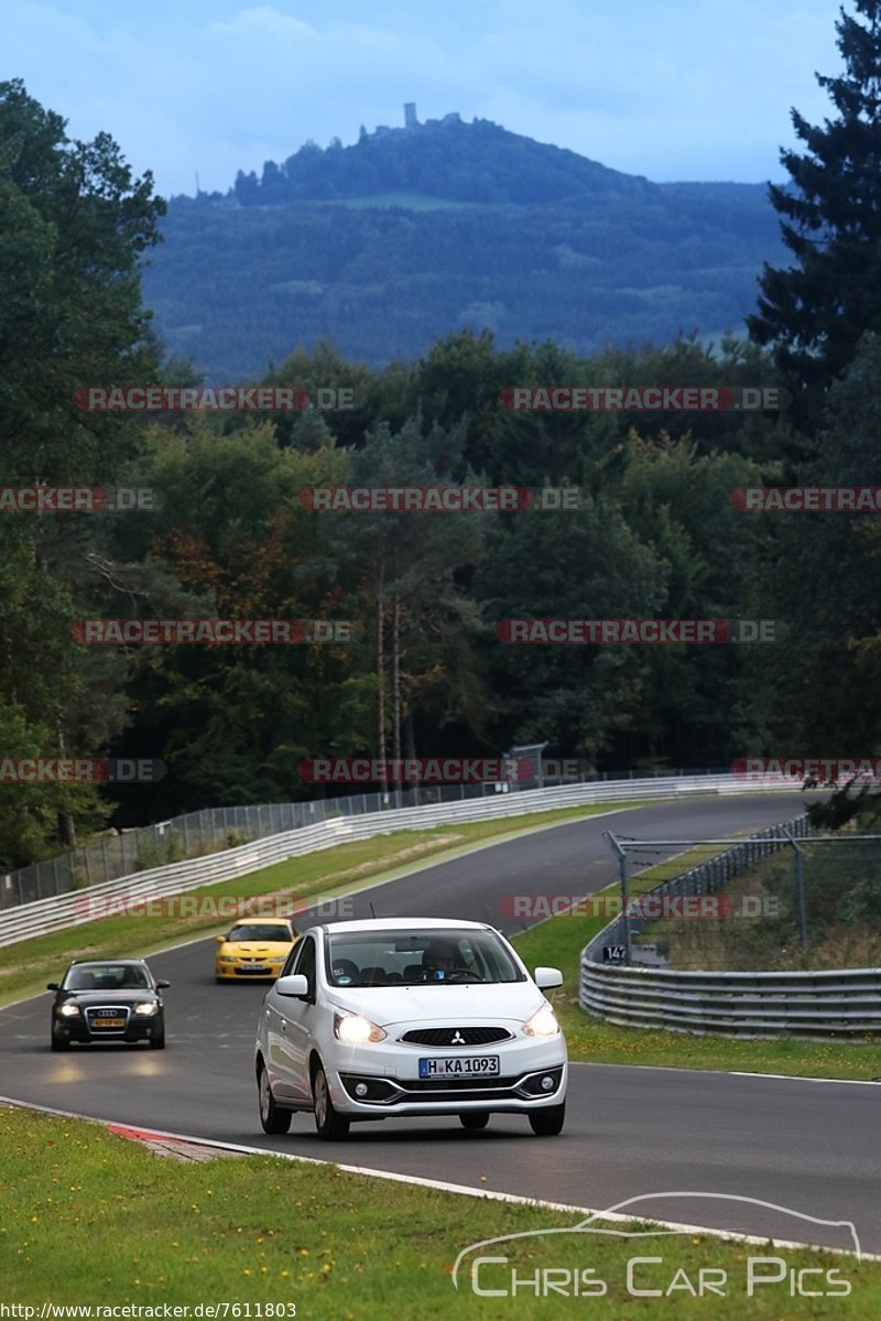
[[[375,886],[355,898],[355,915],[369,917],[372,901],[378,915],[456,915],[511,933],[519,923],[499,910],[503,896],[589,893],[616,880],[604,830],[721,836],[795,816],[800,803],[794,794],[713,797],[588,818]],[[881,1252],[881,1096],[872,1083],[575,1065],[567,1125],[555,1139],[534,1137],[524,1119],[506,1115],[473,1133],[454,1118],[357,1124],[346,1143],[333,1145],[320,1141],[310,1115],[296,1115],[289,1135],[267,1137],[254,1083],[254,1030],[265,987],[217,985],[213,948],[207,939],[151,958],[156,975],[172,982],[165,1052],[107,1045],[53,1055],[48,993],[0,1011],[0,1094],[575,1206],[605,1209],[670,1192],[717,1194],[652,1198],[633,1211],[853,1246],[848,1230],[725,1201],[754,1198],[802,1217],[853,1222],[861,1248]],[[553,1213],[548,1217],[551,1226]]]

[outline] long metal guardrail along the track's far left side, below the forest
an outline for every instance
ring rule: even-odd
[[[763,787],[763,786],[758,786]],[[779,790],[779,783],[773,786]],[[800,789],[800,782],[789,787]],[[115,881],[83,886],[67,894],[36,900],[0,910],[0,946],[13,945],[30,937],[94,921],[94,908],[86,902],[95,897],[111,898],[125,894],[129,900],[164,898],[238,880],[262,871],[273,863],[304,853],[333,848],[347,840],[370,839],[396,830],[419,830],[442,826],[445,822],[491,820],[503,816],[522,816],[527,812],[549,811],[555,807],[577,807],[602,802],[627,802],[643,798],[678,798],[680,794],[744,793],[744,785],[733,775],[678,777],[651,781],[601,781],[588,785],[557,786],[555,789],[524,790],[516,794],[498,794],[495,798],[476,798],[460,803],[427,807],[402,807],[362,816],[345,816],[284,831],[267,839],[242,844],[238,848],[195,857],[185,863],[172,863],[147,872],[122,876]],[[746,790],[749,791],[749,790]]]

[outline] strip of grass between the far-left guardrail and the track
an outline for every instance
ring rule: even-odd
[[[457,857],[483,843],[502,843],[548,826],[641,806],[642,802],[593,803],[519,818],[396,831],[351,844],[337,844],[304,857],[291,857],[250,876],[205,885],[188,893],[199,900],[215,901],[275,894],[285,896],[293,902],[318,896],[349,894],[363,889],[369,882],[394,880],[427,863]],[[133,894],[136,885],[137,881]],[[82,894],[86,898],[88,892],[83,890]],[[210,914],[201,918],[129,914],[86,922],[65,931],[0,947],[0,1005],[42,991],[46,982],[55,980],[65,971],[70,959],[144,956],[227,929],[229,922],[225,925],[223,919]]]

